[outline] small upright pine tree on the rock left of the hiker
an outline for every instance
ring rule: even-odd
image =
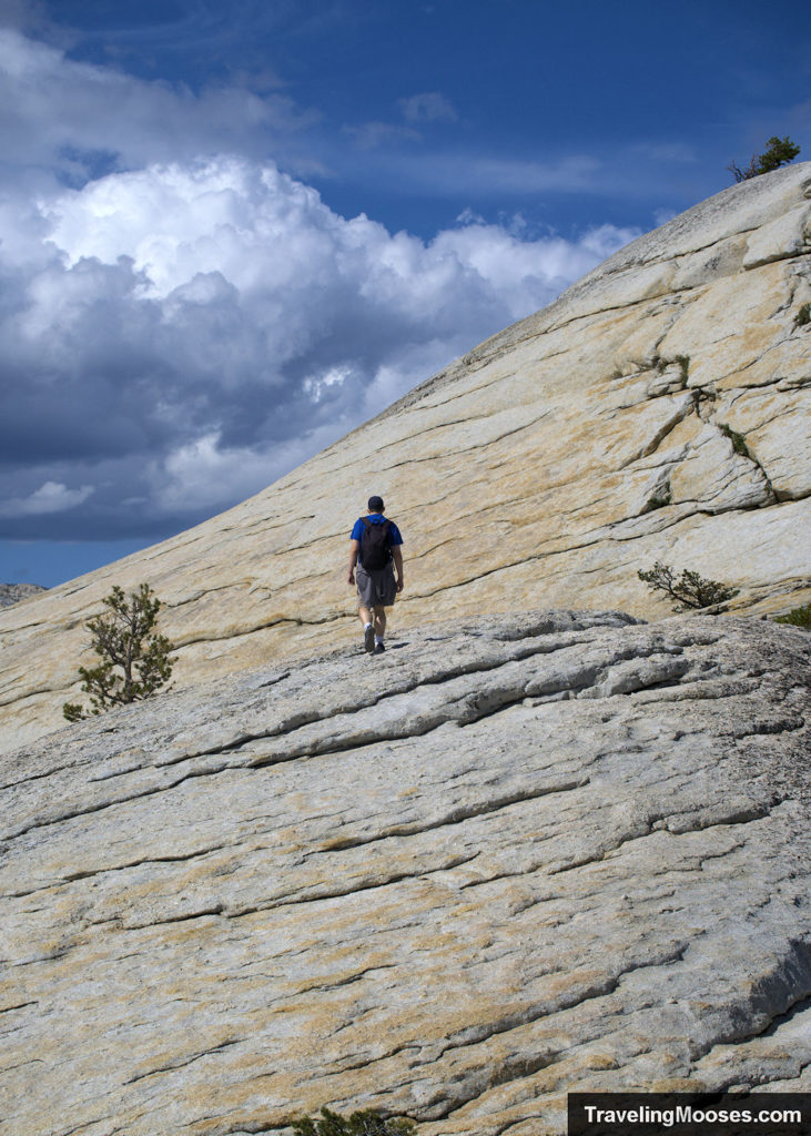
[[[116,585],[101,602],[108,613],[93,616],[85,624],[91,633],[90,645],[100,661],[95,667],[78,668],[91,708],[66,702],[62,713],[68,721],[140,702],[172,676],[174,660],[169,652],[174,646],[164,635],[151,634],[161,604],[149,584],[141,584],[129,596]]]

